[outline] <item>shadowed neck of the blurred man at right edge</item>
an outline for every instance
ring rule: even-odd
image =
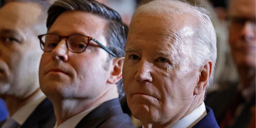
[[[243,88],[246,88],[252,84],[255,85],[255,68],[238,67],[238,74],[240,81],[243,84]]]

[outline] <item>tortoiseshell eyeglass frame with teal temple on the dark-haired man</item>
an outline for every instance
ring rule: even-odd
[[[44,52],[52,52],[52,51],[45,51],[45,50],[43,49],[43,47],[42,47],[42,45],[44,46],[44,44],[45,44],[45,43],[43,42],[42,38],[43,38],[44,35],[47,35],[47,34],[54,34],[54,33],[46,33],[46,34],[38,35],[38,39],[40,40],[40,47],[41,47],[41,49],[42,49]],[[57,34],[54,34],[54,35],[57,35]],[[82,35],[82,34],[72,34],[72,35]],[[63,39],[63,38],[66,39],[66,46],[67,46],[67,48],[68,48],[69,51],[70,51],[70,49],[69,49],[69,47],[68,47],[67,40],[68,40],[68,38],[69,38],[70,36],[72,36],[72,35],[68,35],[68,36],[57,35],[57,36],[59,37],[59,41],[58,41],[58,42],[60,42],[60,40]],[[82,52],[84,52],[84,51],[86,50],[86,48],[88,47],[90,41],[93,40],[95,43],[97,43],[102,49],[104,49],[104,50],[105,50],[106,52],[108,52],[110,55],[112,55],[112,56],[114,56],[114,57],[117,57],[115,53],[113,53],[109,48],[107,48],[107,47],[105,47],[104,45],[102,45],[102,44],[101,44],[99,41],[97,41],[95,38],[89,37],[89,36],[87,36],[87,35],[82,35],[82,36],[84,36],[84,37],[86,37],[86,38],[88,39],[88,43],[87,43],[85,49],[84,49]],[[72,53],[82,53],[82,52],[73,52],[73,51],[70,51],[70,52],[72,52]]]

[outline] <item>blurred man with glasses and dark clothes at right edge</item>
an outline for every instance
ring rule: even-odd
[[[255,4],[255,0],[230,1],[229,45],[239,83],[231,83],[225,90],[209,94],[206,101],[222,128],[255,128]]]

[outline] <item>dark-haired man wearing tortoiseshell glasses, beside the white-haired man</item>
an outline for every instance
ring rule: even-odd
[[[60,0],[48,10],[47,28],[38,36],[39,82],[55,127],[134,127],[118,99],[127,37],[120,15],[94,0]]]

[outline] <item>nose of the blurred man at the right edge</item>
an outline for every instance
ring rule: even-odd
[[[255,33],[256,33],[256,29],[255,29],[255,23],[252,23],[250,21],[246,21],[244,23],[244,26],[241,30],[241,34],[242,34],[242,38],[244,38],[245,40],[255,40]]]

